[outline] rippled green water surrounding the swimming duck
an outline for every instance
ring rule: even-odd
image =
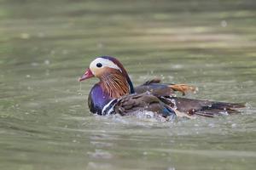
[[[0,0],[0,169],[254,169],[256,3]],[[135,84],[199,88],[190,98],[247,102],[236,116],[157,122],[93,116],[96,79],[113,55]]]

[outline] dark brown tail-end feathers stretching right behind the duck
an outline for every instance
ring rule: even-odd
[[[201,99],[186,99],[179,97],[161,97],[160,100],[174,110],[183,112],[188,116],[218,116],[239,113],[237,109],[244,108],[245,104],[225,103]]]

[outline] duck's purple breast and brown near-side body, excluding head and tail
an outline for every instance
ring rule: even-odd
[[[122,116],[134,115],[137,111],[152,111],[160,116],[175,116],[175,112],[153,94],[125,94],[120,98],[113,98],[96,83],[90,90],[88,106],[90,111],[97,115],[119,114]]]

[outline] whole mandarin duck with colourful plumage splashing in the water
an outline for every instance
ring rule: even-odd
[[[98,115],[135,115],[138,111],[151,111],[164,118],[185,116],[217,116],[237,113],[245,105],[201,99],[176,97],[194,92],[195,87],[186,84],[161,83],[154,79],[134,87],[124,66],[110,56],[94,59],[90,67],[79,78],[79,82],[91,77],[99,78],[90,90],[88,105],[90,111]]]

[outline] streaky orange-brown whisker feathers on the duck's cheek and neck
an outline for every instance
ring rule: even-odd
[[[130,94],[129,83],[119,71],[106,71],[102,75],[100,85],[103,92],[110,98],[117,99],[125,94]]]

